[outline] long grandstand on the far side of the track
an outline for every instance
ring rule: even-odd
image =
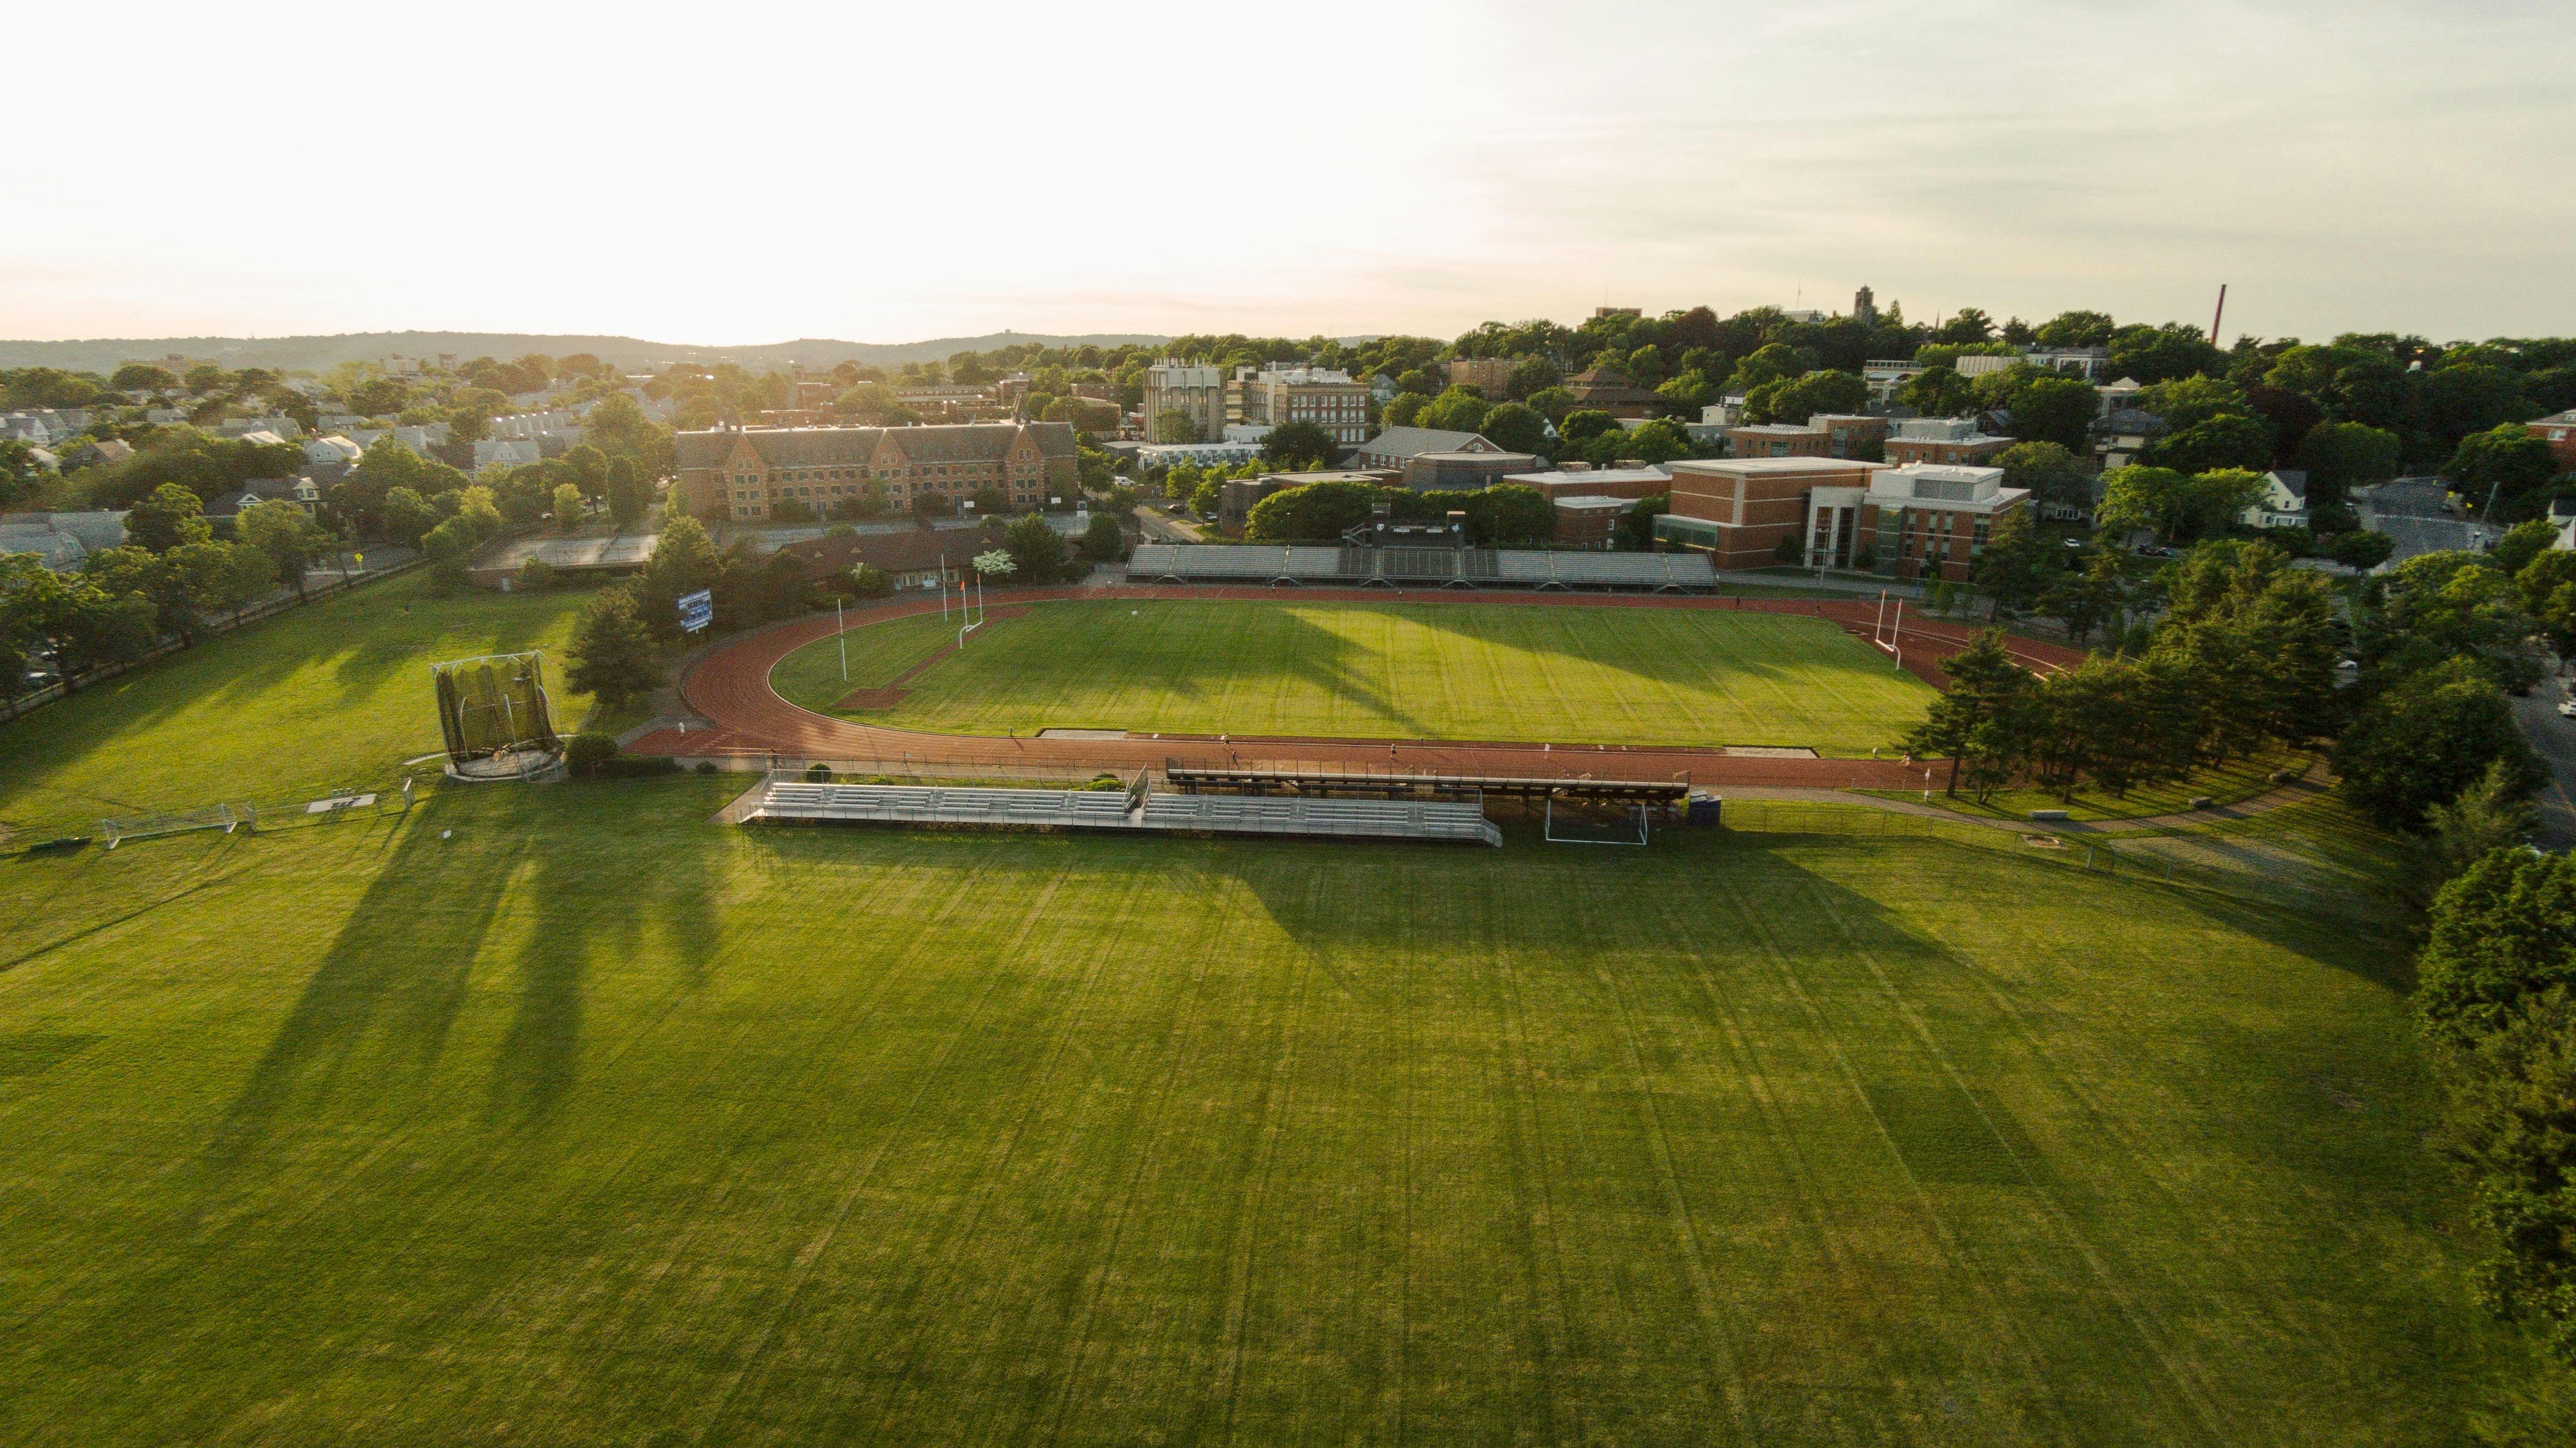
[[[1128,582],[1340,582],[1358,587],[1535,587],[1695,593],[1716,587],[1708,554],[1579,554],[1546,549],[1376,549],[1298,544],[1139,544]]]

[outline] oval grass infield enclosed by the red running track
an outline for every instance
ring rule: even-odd
[[[878,629],[899,624],[850,636],[853,685],[858,642]],[[902,672],[935,644],[912,629],[868,652]],[[770,680],[806,709],[832,711],[845,693],[829,639],[788,654]],[[853,719],[951,734],[1061,727],[1868,755],[1932,698],[1821,618],[1450,603],[1041,603],[976,631],[909,688],[899,706]]]

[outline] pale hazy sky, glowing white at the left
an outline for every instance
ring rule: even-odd
[[[108,26],[103,33],[100,26]],[[0,335],[2576,332],[2566,3],[21,15]]]

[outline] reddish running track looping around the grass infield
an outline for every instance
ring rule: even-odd
[[[1716,608],[1747,613],[1806,613],[1829,618],[1868,639],[1878,603],[1798,600],[1798,598],[1672,598],[1602,593],[1461,593],[1461,590],[1360,590],[1360,587],[1038,587],[1012,590],[1010,603],[1051,600],[1350,600],[1386,603],[1504,603],[1515,608]],[[853,626],[907,618],[935,611],[935,600],[878,603],[845,616]],[[961,765],[1054,765],[1133,770],[1164,760],[1218,765],[1229,760],[1337,763],[1376,770],[1479,773],[1479,776],[1592,776],[1592,778],[1690,778],[1690,783],[1788,786],[1788,788],[1904,788],[1924,781],[1924,768],[1899,760],[1780,760],[1726,755],[1710,747],[1656,745],[1510,745],[1468,739],[1301,739],[1301,737],[1208,737],[1164,734],[1128,739],[992,739],[984,734],[925,734],[884,729],[811,714],[770,691],[770,670],[814,639],[832,636],[832,616],[799,618],[760,634],[719,644],[680,678],[680,698],[716,721],[714,732],[657,729],[631,745],[641,755],[744,755],[775,752],[801,760],[876,760]],[[1937,660],[1950,657],[1973,629],[1906,618],[1899,647],[1904,667],[1942,685]],[[2012,654],[2040,670],[2081,662],[2079,649],[2012,639]]]

